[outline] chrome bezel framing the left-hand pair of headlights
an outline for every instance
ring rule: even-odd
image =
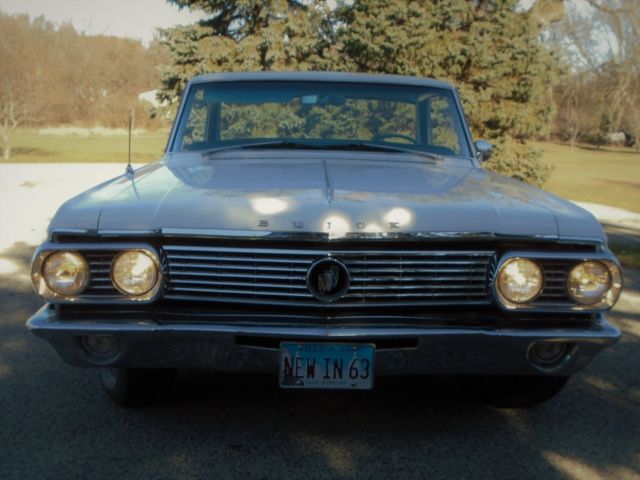
[[[77,293],[75,295],[60,295],[53,291],[45,282],[42,269],[45,260],[56,252],[71,251],[82,255],[88,262],[90,267],[93,268],[91,260],[88,260],[87,255],[90,257],[92,254],[104,254],[105,257],[111,257],[113,260],[119,253],[124,251],[144,251],[149,257],[153,259],[157,269],[157,279],[154,287],[144,295],[140,296],[128,296],[118,290],[116,285],[111,283],[113,288],[112,294],[96,294],[93,291],[94,285],[90,282],[85,291]],[[158,250],[148,244],[131,242],[131,243],[109,243],[109,242],[92,242],[92,243],[54,243],[47,242],[42,244],[35,252],[31,263],[31,280],[33,287],[38,295],[40,295],[46,301],[53,304],[95,304],[95,305],[123,305],[130,303],[153,303],[157,301],[164,293],[165,287],[165,271],[163,264],[160,260],[160,254]],[[101,269],[107,269],[110,278],[111,260]],[[90,273],[91,275],[91,273]],[[112,282],[112,280],[109,280]]]

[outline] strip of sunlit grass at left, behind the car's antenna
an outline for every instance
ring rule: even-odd
[[[131,161],[149,163],[160,159],[167,137],[167,132],[134,136],[131,144]],[[114,137],[38,135],[37,131],[22,130],[13,135],[11,142],[10,162],[127,161],[128,138],[126,135]]]

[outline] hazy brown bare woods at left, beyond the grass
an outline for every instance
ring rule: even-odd
[[[0,148],[10,159],[16,129],[41,124],[126,124],[138,94],[158,86],[163,47],[104,35],[84,35],[70,24],[0,12]]]

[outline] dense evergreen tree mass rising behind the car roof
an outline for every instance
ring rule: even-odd
[[[557,60],[541,41],[537,4],[525,12],[518,0],[355,0],[333,10],[319,0],[169,1],[209,17],[163,32],[174,62],[165,98],[216,71],[438,78],[458,88],[474,134],[495,144],[487,166],[535,184],[548,173],[524,143],[547,132],[553,113]]]

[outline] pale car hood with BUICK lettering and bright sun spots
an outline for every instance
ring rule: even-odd
[[[585,210],[470,161],[362,152],[167,155],[70,200],[51,228],[604,239]]]

